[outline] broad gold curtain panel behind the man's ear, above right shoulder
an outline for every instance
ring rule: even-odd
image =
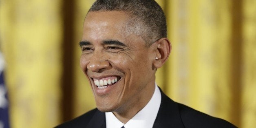
[[[166,93],[177,102],[234,123],[229,91],[230,2],[174,0],[168,5],[173,51],[166,65]]]

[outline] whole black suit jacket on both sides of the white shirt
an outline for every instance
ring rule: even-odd
[[[236,128],[228,121],[211,117],[172,101],[162,90],[161,97],[161,105],[153,128]],[[95,108],[56,128],[106,128],[105,113]]]

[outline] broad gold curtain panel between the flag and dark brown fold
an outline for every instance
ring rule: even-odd
[[[60,118],[60,0],[0,0],[11,128],[51,128]]]

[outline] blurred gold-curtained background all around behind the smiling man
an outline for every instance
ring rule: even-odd
[[[0,0],[0,128],[7,119],[49,128],[95,108],[78,46],[94,1]],[[156,1],[172,42],[157,84],[176,102],[255,127],[256,0]]]

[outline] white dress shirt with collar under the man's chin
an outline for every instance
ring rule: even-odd
[[[161,93],[157,84],[155,84],[154,93],[144,108],[142,108],[132,119],[126,124],[122,123],[115,117],[112,112],[105,113],[106,115],[106,128],[152,128],[154,120],[161,104]]]

